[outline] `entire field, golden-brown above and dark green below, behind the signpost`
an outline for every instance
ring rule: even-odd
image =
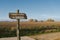
[[[0,22],[0,38],[15,37],[17,22]],[[21,36],[60,32],[60,22],[20,22]]]

